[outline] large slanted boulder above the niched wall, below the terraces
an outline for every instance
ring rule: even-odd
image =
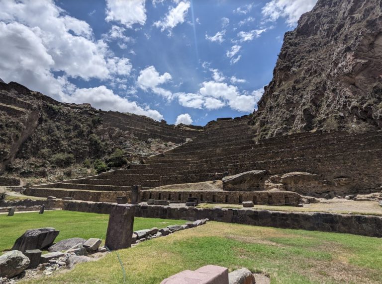
[[[256,170],[227,176],[222,179],[223,189],[228,191],[257,191],[264,189],[266,170]]]

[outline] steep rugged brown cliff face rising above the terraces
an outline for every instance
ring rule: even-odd
[[[382,0],[318,0],[287,32],[252,124],[261,138],[382,128]]]

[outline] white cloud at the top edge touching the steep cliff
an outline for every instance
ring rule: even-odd
[[[286,18],[288,26],[295,26],[300,16],[310,11],[317,0],[272,0],[262,9],[263,16],[269,21]]]

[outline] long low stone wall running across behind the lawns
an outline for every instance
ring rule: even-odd
[[[65,200],[1,201],[0,207],[36,206],[61,208],[67,211],[109,214],[115,203],[89,203]],[[138,205],[136,217],[197,220],[208,218],[213,221],[255,226],[303,229],[335,233],[349,233],[369,237],[382,237],[382,217],[337,213],[279,212],[253,209],[199,209],[193,207],[172,208],[169,206]]]

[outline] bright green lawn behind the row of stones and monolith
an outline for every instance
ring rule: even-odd
[[[60,233],[59,240],[80,237],[84,239],[106,236],[109,215],[71,211],[45,211],[44,214],[16,213],[14,216],[0,214],[0,254],[11,249],[14,241],[28,229],[54,227]],[[184,220],[165,220],[154,218],[135,218],[134,230],[163,228],[168,225],[182,225]]]

